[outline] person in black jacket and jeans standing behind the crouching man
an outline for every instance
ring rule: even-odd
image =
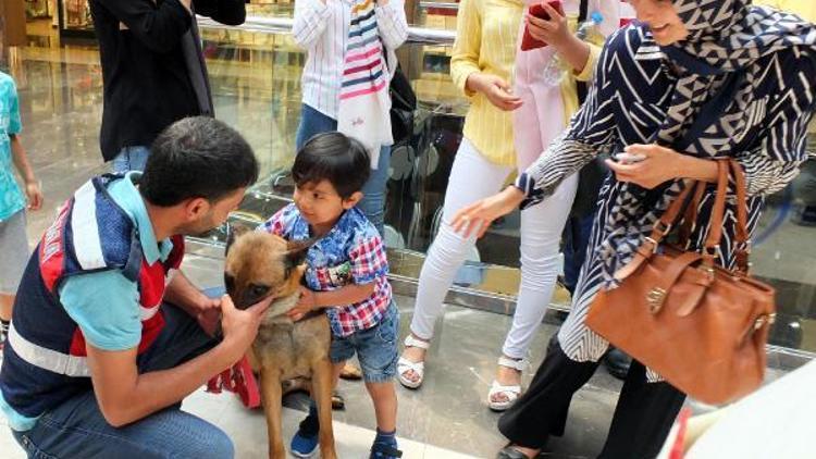
[[[245,0],[90,0],[90,12],[104,85],[102,158],[114,172],[140,171],[165,127],[213,115],[194,14],[239,25]]]

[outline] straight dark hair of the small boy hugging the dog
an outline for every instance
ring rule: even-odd
[[[341,133],[324,133],[309,139],[297,152],[292,177],[298,186],[329,181],[347,199],[362,189],[371,174],[371,160],[359,140]]]

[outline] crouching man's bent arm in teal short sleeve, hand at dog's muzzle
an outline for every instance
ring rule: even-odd
[[[141,340],[141,319],[136,284],[120,271],[102,271],[67,278],[59,295],[85,337],[94,390],[102,414],[114,426],[177,402],[239,360],[269,306],[265,301],[238,311],[228,297],[223,297],[224,338],[218,346],[177,368],[138,374],[136,349]]]

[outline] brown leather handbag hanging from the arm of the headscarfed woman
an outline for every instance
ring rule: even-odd
[[[656,371],[678,389],[706,404],[725,404],[757,388],[765,374],[765,344],[776,318],[774,288],[749,275],[745,177],[733,160],[717,161],[712,223],[702,253],[663,244],[690,196],[706,184],[687,186],[603,289],[586,324],[609,343]],[[737,186],[737,269],[715,264],[726,212],[729,169]],[[693,195],[692,195],[693,193]],[[683,225],[696,219],[688,208]]]

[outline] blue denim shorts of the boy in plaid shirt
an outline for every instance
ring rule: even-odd
[[[397,338],[399,310],[394,301],[383,320],[371,328],[345,337],[332,337],[329,358],[332,363],[346,361],[357,353],[367,383],[386,383],[397,374]]]

